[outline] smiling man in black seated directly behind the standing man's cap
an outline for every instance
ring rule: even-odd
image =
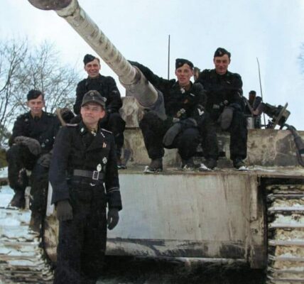
[[[124,145],[124,129],[126,123],[119,114],[122,106],[119,89],[117,89],[114,79],[110,76],[104,77],[100,75],[100,61],[93,55],[85,55],[83,59],[85,63],[85,71],[87,79],[80,81],[76,89],[76,102],[74,104],[75,114],[80,114],[80,105],[85,93],[94,89],[107,99],[106,115],[102,119],[102,128],[112,131],[116,143],[117,165],[119,169],[126,168],[121,162],[121,148]]]

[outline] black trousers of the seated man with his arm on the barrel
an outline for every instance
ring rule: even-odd
[[[161,120],[152,111],[143,116],[139,123],[143,133],[143,141],[148,151],[148,156],[152,160],[162,158],[165,151],[163,147],[163,136],[173,126],[172,119]],[[178,148],[180,158],[188,160],[195,155],[198,144],[200,143],[200,131],[197,127],[184,127],[175,137],[171,146],[166,148]]]

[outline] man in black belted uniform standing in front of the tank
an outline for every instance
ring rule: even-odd
[[[96,283],[108,229],[119,222],[121,196],[116,148],[111,132],[101,129],[106,99],[89,91],[79,124],[63,126],[50,165],[52,203],[59,220],[55,284]],[[106,206],[109,206],[106,217]]]

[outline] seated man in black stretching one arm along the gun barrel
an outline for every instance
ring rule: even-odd
[[[147,67],[138,62],[130,63],[138,67],[148,81],[163,93],[167,119],[161,120],[154,111],[148,111],[139,126],[143,140],[151,158],[145,173],[156,173],[163,170],[165,148],[178,148],[182,159],[183,170],[193,170],[193,156],[200,143],[201,134],[205,138],[203,145],[207,153],[207,167],[210,160],[217,158],[217,138],[215,131],[210,129],[207,113],[205,113],[205,91],[200,83],[193,84],[193,64],[186,59],[176,59],[175,75],[177,80],[165,80],[153,74]]]

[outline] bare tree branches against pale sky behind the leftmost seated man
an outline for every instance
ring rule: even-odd
[[[45,110],[72,107],[80,75],[60,61],[53,44],[31,47],[28,40],[0,41],[0,146],[18,114],[26,109],[26,94],[40,89],[45,94]]]

